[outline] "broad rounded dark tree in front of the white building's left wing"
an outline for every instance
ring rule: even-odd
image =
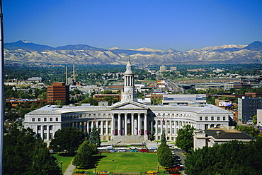
[[[50,147],[59,152],[67,150],[69,155],[72,155],[83,141],[84,134],[77,128],[62,128],[55,132],[54,138],[50,142]]]

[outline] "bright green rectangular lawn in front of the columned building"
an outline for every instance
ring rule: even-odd
[[[154,153],[141,152],[112,152],[102,153],[93,157],[93,165],[87,167],[87,171],[110,171],[112,172],[139,172],[144,173],[149,170],[158,169],[157,155]],[[164,172],[164,168],[159,166],[159,171]]]

